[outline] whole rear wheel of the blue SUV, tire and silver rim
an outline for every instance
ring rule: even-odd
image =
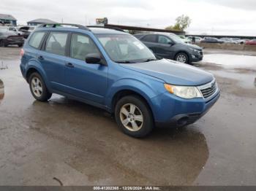
[[[49,93],[42,77],[37,72],[30,75],[29,87],[32,95],[37,101],[48,101],[52,95]]]

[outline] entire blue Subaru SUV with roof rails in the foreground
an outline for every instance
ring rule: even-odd
[[[192,124],[219,98],[212,74],[157,60],[118,29],[43,24],[20,54],[21,72],[38,101],[57,93],[105,109],[133,137],[154,127]]]

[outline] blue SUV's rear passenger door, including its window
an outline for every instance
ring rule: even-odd
[[[68,35],[69,33],[63,31],[51,31],[37,55],[51,88],[59,92],[66,91],[64,69],[67,63]]]

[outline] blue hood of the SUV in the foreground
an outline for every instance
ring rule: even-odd
[[[211,82],[212,74],[184,63],[162,59],[146,63],[120,63],[126,69],[162,79],[172,85],[204,85]]]

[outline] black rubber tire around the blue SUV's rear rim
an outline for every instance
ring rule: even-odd
[[[42,87],[42,90],[37,90],[39,91],[39,95],[36,95],[36,93],[34,93],[34,90],[32,87],[33,79],[39,79],[40,87]],[[50,99],[52,95],[52,93],[48,91],[48,88],[46,87],[44,80],[42,79],[40,74],[38,74],[37,72],[34,72],[29,76],[29,87],[30,87],[31,94],[37,101],[42,101],[42,102],[48,101],[48,99]]]

